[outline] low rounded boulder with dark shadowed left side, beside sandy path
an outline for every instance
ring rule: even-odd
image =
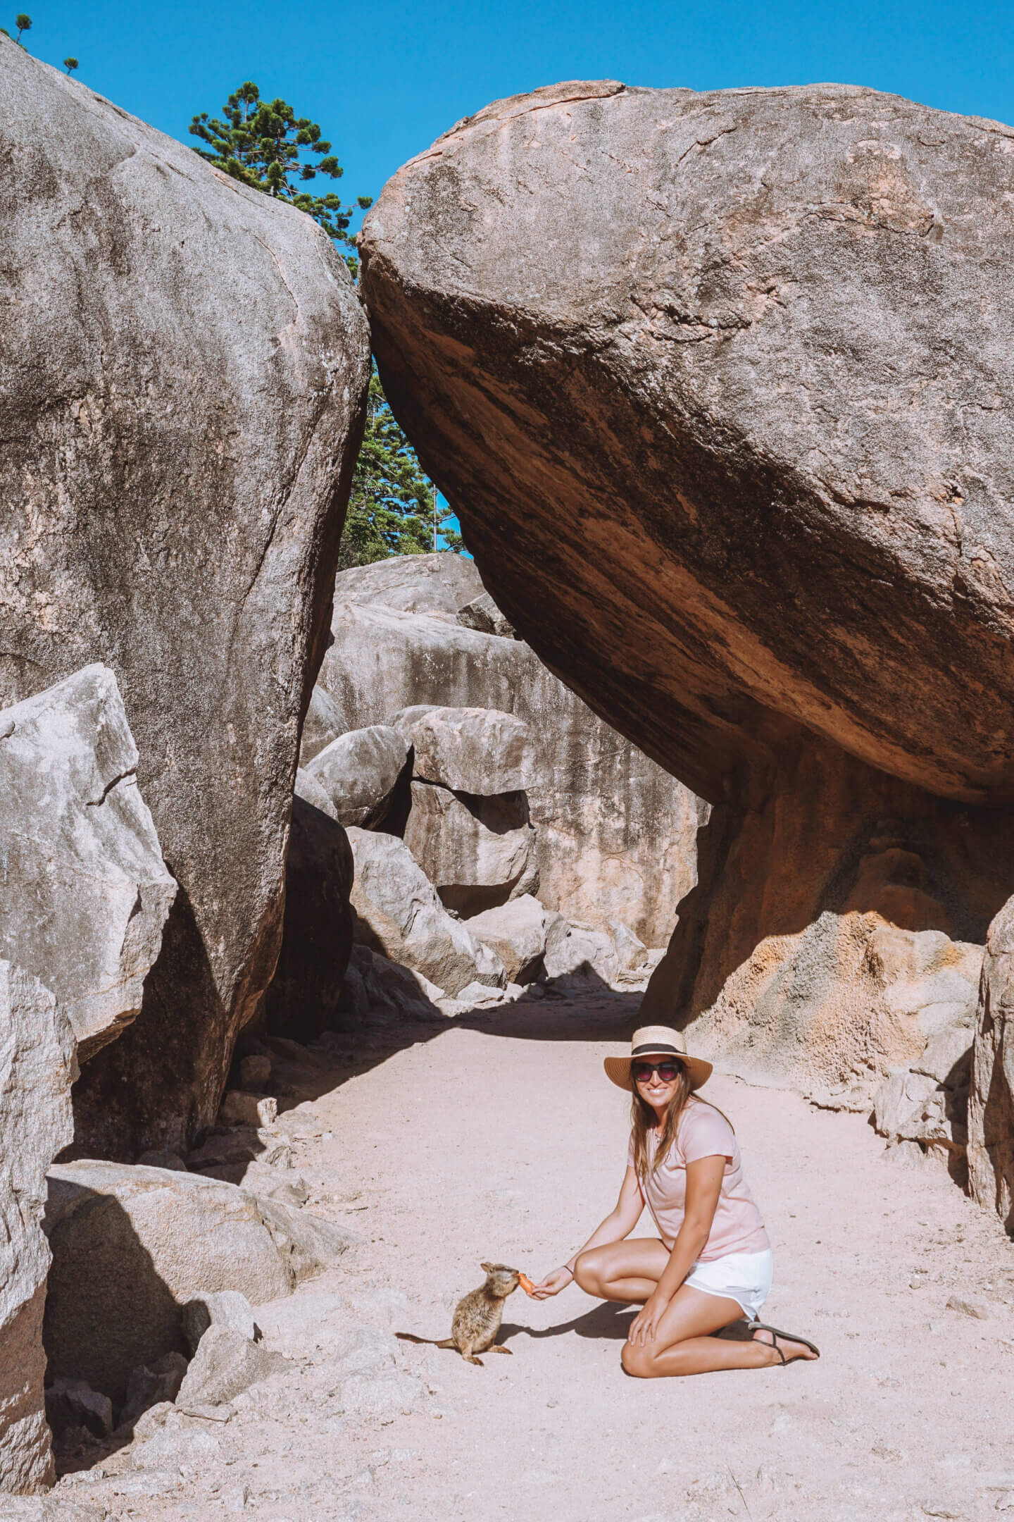
[[[122,1403],[131,1371],[185,1352],[182,1307],[205,1291],[251,1303],[295,1285],[284,1233],[234,1184],[123,1163],[49,1175],[53,1251],[44,1341],[50,1374],[87,1379]]]

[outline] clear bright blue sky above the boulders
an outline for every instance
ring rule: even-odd
[[[18,6],[6,15],[8,3],[0,24],[11,29]],[[219,114],[245,79],[284,96],[331,139],[347,199],[375,196],[459,117],[561,79],[695,90],[836,81],[1014,120],[1014,12],[990,0],[27,0],[26,9],[30,52],[56,65],[79,58],[93,90],[184,142],[193,113]]]

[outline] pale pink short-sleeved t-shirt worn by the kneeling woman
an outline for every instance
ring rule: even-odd
[[[687,1163],[696,1163],[702,1157],[724,1157],[725,1175],[711,1231],[698,1254],[698,1262],[713,1263],[716,1257],[725,1257],[728,1253],[763,1253],[771,1242],[743,1178],[736,1135],[728,1120],[702,1099],[687,1100],[669,1157],[658,1172],[649,1172],[646,1180],[639,1180],[642,1196],[658,1227],[658,1236],[672,1251],[686,1212]],[[649,1131],[649,1167],[654,1158],[655,1132]],[[634,1166],[632,1135],[626,1161],[629,1167]]]

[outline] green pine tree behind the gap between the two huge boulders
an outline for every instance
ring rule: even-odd
[[[318,174],[331,180],[342,175],[316,122],[298,117],[286,100],[261,100],[260,90],[248,79],[222,107],[222,119],[202,111],[190,122],[190,131],[204,145],[195,152],[216,169],[287,201],[319,222],[339,248],[354,248],[356,239],[348,231],[354,207],[342,205],[334,192],[312,195],[299,189]],[[316,155],[316,161],[309,155]],[[356,202],[366,210],[372,198],[360,195]],[[345,253],[345,262],[356,277],[356,256]],[[436,487],[398,428],[374,365],[339,568],[369,565],[388,556],[426,554],[436,546],[462,549],[461,534],[450,519],[453,513],[438,505]]]

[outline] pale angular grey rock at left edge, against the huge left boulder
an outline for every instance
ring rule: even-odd
[[[85,1062],[141,1008],[176,884],[108,667],[0,712],[0,956],[65,1009]]]

